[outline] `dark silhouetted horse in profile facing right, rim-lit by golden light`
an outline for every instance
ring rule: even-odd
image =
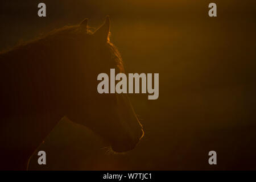
[[[133,150],[144,131],[127,94],[99,94],[97,75],[125,72],[110,42],[110,19],[88,19],[0,53],[0,169],[23,170],[61,118],[88,127],[114,152]]]

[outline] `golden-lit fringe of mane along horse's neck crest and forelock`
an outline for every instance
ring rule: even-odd
[[[93,35],[95,28],[88,27],[87,31],[82,31],[80,27],[80,24],[73,25],[73,26],[64,26],[62,28],[56,28],[47,34],[39,35],[38,37],[22,41],[17,43],[14,47],[11,47],[9,49],[3,49],[0,51],[1,55],[8,55],[11,54],[13,51],[22,53],[24,50],[28,49],[27,47],[33,48],[33,47],[55,47],[57,45],[54,45],[55,41],[52,40],[63,40],[63,39],[75,39],[75,36],[84,35],[89,36]],[[119,69],[119,72],[124,72],[123,68],[123,61],[121,54],[119,53],[117,47],[114,46],[112,42],[110,42],[110,32],[108,36],[108,40],[106,41],[107,46],[110,49],[110,52],[112,53],[112,58],[115,61],[115,64],[117,65],[117,68]],[[35,50],[38,51],[38,50]],[[43,51],[38,51],[37,56],[40,56],[40,53],[43,53]],[[1,57],[0,57],[1,60]]]

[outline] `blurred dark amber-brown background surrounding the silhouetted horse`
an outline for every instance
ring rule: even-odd
[[[47,165],[35,155],[30,169],[256,169],[255,8],[252,0],[0,1],[0,49],[84,18],[97,28],[110,15],[126,73],[159,73],[158,100],[130,94],[145,131],[133,151],[112,154],[63,119],[39,147]],[[211,150],[217,165],[208,164]]]

